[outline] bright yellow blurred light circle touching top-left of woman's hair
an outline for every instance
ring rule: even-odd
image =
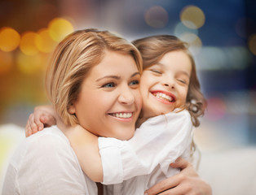
[[[54,41],[62,41],[69,33],[73,32],[73,25],[63,18],[55,18],[49,23],[49,32]]]

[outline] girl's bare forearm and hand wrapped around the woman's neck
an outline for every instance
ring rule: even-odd
[[[75,154],[77,154],[82,171],[86,173],[86,176],[95,182],[102,182],[103,171],[99,156],[98,137],[86,131],[80,125],[75,127],[64,125],[55,114],[52,106],[37,106],[34,109],[26,125],[26,137],[41,131],[44,127],[51,127],[55,124],[68,137],[68,141]]]

